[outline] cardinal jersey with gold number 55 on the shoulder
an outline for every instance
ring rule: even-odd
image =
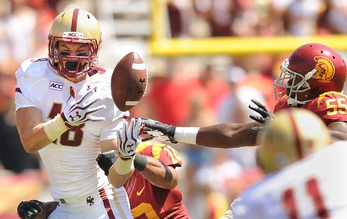
[[[274,112],[288,107],[287,101],[279,101]],[[301,108],[317,114],[327,125],[332,122],[347,122],[347,96],[337,91],[325,92]]]

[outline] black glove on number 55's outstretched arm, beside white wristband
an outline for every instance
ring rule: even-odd
[[[175,130],[177,126],[168,125],[159,121],[152,120],[150,118],[141,117],[142,124],[145,125],[146,129],[143,134],[149,134],[150,136],[145,137],[142,141],[148,141],[152,139],[158,139],[161,141],[170,141],[176,144],[175,141]]]

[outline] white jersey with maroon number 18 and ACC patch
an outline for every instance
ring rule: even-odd
[[[129,112],[119,111],[113,103],[110,89],[113,71],[97,69],[98,73],[73,83],[58,75],[48,59],[41,57],[26,60],[16,72],[16,111],[37,107],[42,114],[42,122],[62,112],[69,98],[70,86],[76,90],[76,100],[92,90],[94,93],[90,100],[100,98],[97,104],[106,106],[94,114],[105,117],[105,121],[86,122],[73,127],[39,150],[50,176],[54,198],[87,195],[109,184],[95,159],[101,153],[100,141],[116,139],[116,130],[123,127]]]

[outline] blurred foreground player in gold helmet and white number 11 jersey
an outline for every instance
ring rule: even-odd
[[[278,113],[260,139],[259,163],[268,175],[222,218],[347,217],[347,176],[339,171],[347,165],[347,141],[329,145],[323,121],[303,109]]]

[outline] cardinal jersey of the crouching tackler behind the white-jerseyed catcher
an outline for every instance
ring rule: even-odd
[[[167,166],[180,167],[183,164],[178,152],[169,145],[143,145],[136,152],[160,159]],[[156,187],[137,170],[124,187],[135,219],[190,218],[177,187],[171,190]]]

